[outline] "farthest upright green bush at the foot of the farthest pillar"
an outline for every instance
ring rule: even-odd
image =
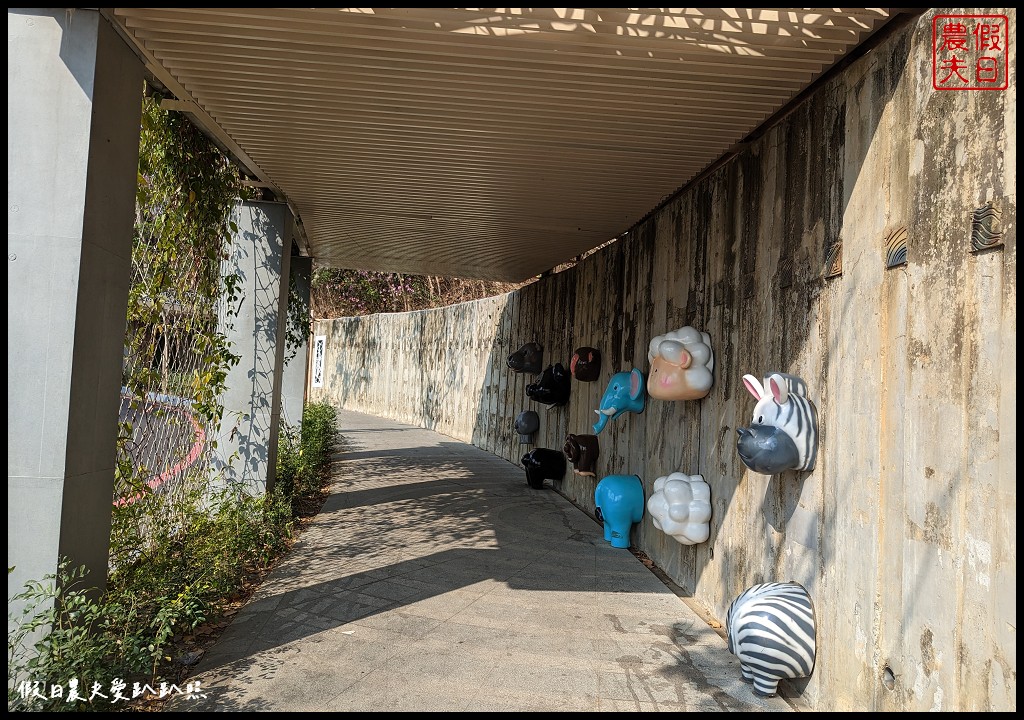
[[[278,488],[293,512],[306,514],[317,501],[331,470],[331,452],[337,444],[338,414],[327,403],[309,403],[298,428],[282,422],[278,440]]]

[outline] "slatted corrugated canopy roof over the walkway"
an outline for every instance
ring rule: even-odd
[[[338,267],[521,281],[629,229],[888,8],[115,8]]]

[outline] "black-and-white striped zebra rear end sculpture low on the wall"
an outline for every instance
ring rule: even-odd
[[[772,697],[779,680],[810,677],[814,670],[814,605],[799,583],[763,583],[740,593],[725,616],[729,652],[743,680]]]

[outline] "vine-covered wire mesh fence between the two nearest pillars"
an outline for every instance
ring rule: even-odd
[[[237,171],[186,118],[147,98],[142,113],[115,503],[209,480],[233,357],[234,302],[222,277]]]

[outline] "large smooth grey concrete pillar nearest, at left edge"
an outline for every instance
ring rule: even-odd
[[[106,582],[141,104],[97,11],[8,8],[8,597]]]

